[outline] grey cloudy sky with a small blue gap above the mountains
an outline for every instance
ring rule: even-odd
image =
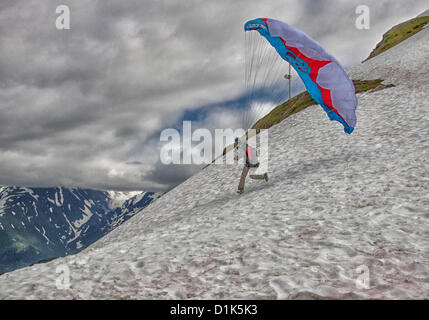
[[[55,27],[60,4],[70,30]],[[355,27],[360,4],[370,30]],[[184,119],[234,126],[245,21],[288,22],[347,68],[426,9],[426,0],[0,0],[0,185],[167,190],[196,169],[159,162],[163,129]]]

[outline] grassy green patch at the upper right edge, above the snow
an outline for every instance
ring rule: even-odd
[[[429,16],[413,18],[394,26],[383,35],[383,39],[377,44],[375,49],[372,50],[371,54],[364,62],[416,34],[422,30],[427,23],[429,23]]]

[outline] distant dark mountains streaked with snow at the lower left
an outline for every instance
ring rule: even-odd
[[[0,273],[80,251],[158,195],[79,188],[0,188]]]

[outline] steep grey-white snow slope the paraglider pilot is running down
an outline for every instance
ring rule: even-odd
[[[428,298],[427,61],[425,28],[350,71],[395,85],[358,95],[350,136],[310,107],[270,129],[268,183],[237,195],[242,167],[211,165],[0,298]]]

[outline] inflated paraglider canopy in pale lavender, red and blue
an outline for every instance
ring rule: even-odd
[[[257,31],[296,70],[312,96],[350,134],[356,125],[357,98],[353,82],[340,63],[318,42],[287,23],[258,18],[244,25]]]

